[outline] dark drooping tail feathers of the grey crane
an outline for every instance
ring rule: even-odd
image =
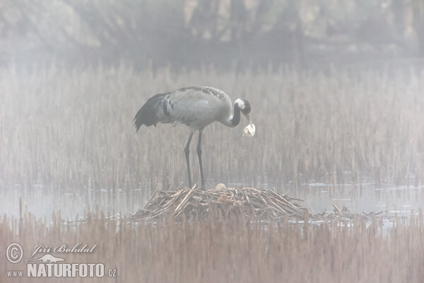
[[[156,125],[160,122],[160,117],[163,117],[163,101],[167,93],[159,93],[149,98],[143,106],[141,106],[139,112],[134,117],[134,127],[136,132],[139,131],[141,125],[147,127]]]

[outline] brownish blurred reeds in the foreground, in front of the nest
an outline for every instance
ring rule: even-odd
[[[102,214],[77,218],[74,225],[64,225],[58,214],[53,219],[45,223],[25,214],[0,220],[0,246],[17,242],[24,250],[16,265],[1,261],[2,282],[28,281],[5,274],[26,270],[25,257],[35,245],[78,242],[97,246],[93,253],[54,255],[117,269],[116,278],[90,282],[420,282],[424,276],[422,212],[394,219],[386,235],[378,217],[371,223],[333,219],[293,224],[287,218],[262,222],[240,215],[225,221],[162,219],[139,226]]]

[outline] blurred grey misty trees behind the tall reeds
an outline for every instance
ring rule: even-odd
[[[419,0],[6,0],[0,66],[423,64]]]

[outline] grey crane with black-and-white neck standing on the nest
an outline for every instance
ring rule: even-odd
[[[250,110],[249,101],[242,98],[237,98],[232,106],[228,95],[218,88],[191,86],[168,93],[159,93],[149,98],[134,117],[134,127],[137,132],[141,125],[156,126],[160,122],[174,123],[174,125],[182,123],[190,128],[189,140],[184,148],[190,187],[192,187],[192,174],[190,173],[189,146],[194,132],[199,130],[197,156],[199,157],[201,187],[205,189],[201,163],[201,134],[204,127],[215,121],[228,127],[235,127],[240,122],[240,112],[252,123],[249,117]]]

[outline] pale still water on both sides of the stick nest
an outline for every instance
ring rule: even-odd
[[[238,183],[240,185],[240,183]],[[231,185],[231,184],[229,184]],[[0,215],[19,216],[19,203],[22,200],[23,212],[30,212],[40,219],[51,219],[53,213],[60,211],[63,219],[76,219],[87,212],[104,212],[106,215],[133,214],[144,207],[153,191],[148,184],[134,189],[116,190],[81,189],[55,190],[36,183],[31,187],[16,184],[2,187]],[[266,184],[262,184],[262,188]],[[331,212],[334,207],[346,207],[352,213],[382,212],[384,216],[408,216],[411,210],[418,212],[424,203],[424,186],[394,187],[392,185],[325,183],[302,184],[298,189],[287,186],[277,190],[289,197],[304,200],[303,207],[311,207],[315,213]]]

